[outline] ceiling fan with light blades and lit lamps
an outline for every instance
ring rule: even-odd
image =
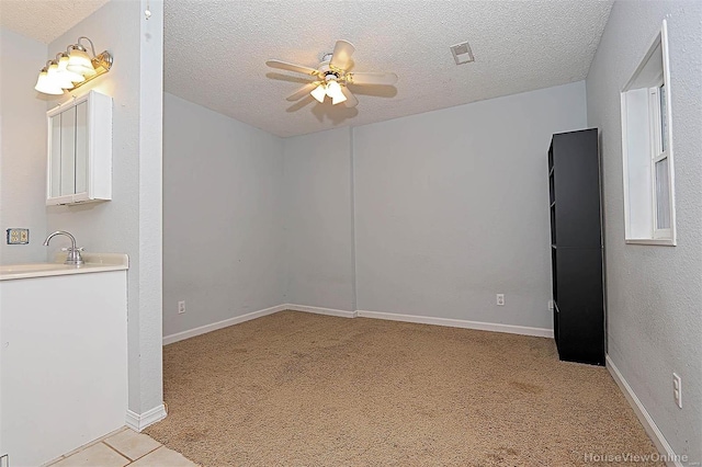
[[[347,107],[354,107],[359,100],[349,90],[348,86],[392,86],[397,82],[397,75],[392,72],[355,72],[349,71],[353,62],[351,55],[355,50],[353,44],[348,41],[337,41],[333,53],[325,54],[317,68],[303,65],[288,64],[281,60],[268,60],[265,65],[281,70],[296,71],[307,75],[310,83],[303,86],[287,96],[288,101],[298,101],[307,94],[312,94],[319,103],[325,98],[331,98],[333,105],[344,102]]]

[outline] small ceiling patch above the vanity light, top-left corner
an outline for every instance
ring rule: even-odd
[[[0,0],[0,25],[48,44],[109,0]]]

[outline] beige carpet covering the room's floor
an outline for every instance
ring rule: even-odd
[[[284,311],[163,358],[169,414],[146,432],[204,466],[603,465],[592,460],[656,452],[607,369],[559,362],[550,339]]]

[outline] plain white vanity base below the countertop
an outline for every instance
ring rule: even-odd
[[[125,424],[126,271],[0,282],[0,454],[38,466]]]

